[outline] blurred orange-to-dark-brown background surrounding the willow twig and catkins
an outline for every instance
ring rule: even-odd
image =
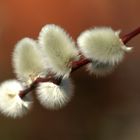
[[[0,0],[0,82],[14,78],[12,50],[23,37],[37,38],[41,27],[54,23],[74,39],[94,26],[122,29],[140,25],[139,0]],[[75,96],[60,111],[49,111],[35,101],[22,119],[0,116],[0,140],[139,140],[140,36],[128,43],[114,73],[89,76],[84,69],[72,75]]]

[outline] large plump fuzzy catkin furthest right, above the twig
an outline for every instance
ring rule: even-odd
[[[84,31],[77,42],[87,58],[114,65],[121,62],[125,52],[132,49],[125,46],[119,33],[107,27],[94,28]]]

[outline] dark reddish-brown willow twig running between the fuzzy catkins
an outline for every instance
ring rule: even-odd
[[[140,34],[140,27],[136,28],[135,30],[133,30],[132,32],[124,35],[121,37],[122,41],[124,44],[126,44],[127,42],[129,42],[132,38],[134,38],[135,36],[137,36],[138,34]],[[72,62],[72,70],[71,70],[71,73],[73,73],[74,71],[80,69],[82,66],[85,66],[86,64],[90,63],[91,60],[81,56],[81,59],[79,61],[74,61]],[[19,96],[21,98],[24,98],[24,96],[26,96],[26,94],[28,94],[29,92],[33,91],[36,89],[37,85],[40,83],[40,82],[53,82],[57,85],[60,84],[62,80],[62,77],[60,78],[55,78],[53,76],[48,76],[48,77],[45,77],[45,78],[37,78],[28,88],[20,91],[19,93]]]

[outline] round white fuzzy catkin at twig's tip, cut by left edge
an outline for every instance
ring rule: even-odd
[[[8,117],[18,118],[31,108],[32,101],[21,99],[19,92],[23,90],[17,80],[7,80],[0,85],[0,112]]]

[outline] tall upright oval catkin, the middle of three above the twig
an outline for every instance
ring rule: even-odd
[[[49,24],[42,28],[39,44],[52,72],[67,77],[71,71],[71,62],[78,59],[72,38],[61,27]]]

